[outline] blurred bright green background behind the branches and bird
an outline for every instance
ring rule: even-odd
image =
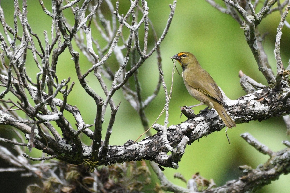
[[[149,18],[151,19],[155,30],[160,37],[168,14],[170,12],[169,4],[173,3],[171,0],[155,1],[148,0]],[[221,2],[221,1],[220,1]],[[44,1],[47,8],[49,8],[50,1]],[[120,2],[120,12],[126,12],[130,6],[129,1]],[[115,2],[113,3],[115,5]],[[1,1],[1,7],[4,10],[6,22],[9,25],[13,25],[13,1],[6,0]],[[106,12],[106,5],[102,7],[102,10]],[[73,17],[70,10],[66,10],[68,21],[73,24]],[[274,73],[276,74],[276,60],[274,58],[273,50],[275,48],[276,30],[280,21],[279,12],[267,16],[262,23],[258,26],[261,33],[267,33],[263,45],[268,55],[268,59]],[[287,21],[290,22],[288,18]],[[38,2],[28,0],[28,22],[30,23],[32,30],[39,34],[41,40],[44,42],[43,31],[47,30],[50,36],[51,19],[44,14],[41,6]],[[0,28],[3,33],[3,27]],[[281,55],[284,66],[287,67],[287,63],[290,57],[289,43],[290,43],[290,30],[284,27],[283,35],[281,39]],[[99,38],[98,32],[95,33],[95,38]],[[150,32],[151,33],[151,32]],[[140,35],[141,36],[141,35]],[[152,38],[151,38],[152,39]],[[102,43],[102,40],[99,40]],[[148,46],[149,49],[153,48],[154,44]],[[78,51],[77,47],[75,49]],[[162,65],[164,70],[164,76],[167,87],[171,84],[171,71],[173,63],[169,57],[182,52],[192,52],[200,64],[206,71],[208,71],[217,84],[222,88],[226,95],[235,100],[246,93],[240,87],[240,79],[238,73],[242,70],[245,74],[253,78],[254,80],[267,85],[262,73],[258,71],[258,66],[255,59],[249,49],[246,40],[244,38],[243,30],[238,23],[231,18],[231,16],[223,14],[213,8],[211,5],[203,0],[186,1],[178,0],[175,15],[171,23],[170,30],[161,44]],[[95,102],[84,92],[82,87],[78,84],[77,77],[75,75],[75,68],[71,56],[66,51],[58,60],[57,73],[59,79],[72,78],[77,84],[73,88],[73,91],[68,97],[68,103],[76,105],[84,118],[86,124],[93,124],[95,119],[96,106]],[[83,73],[86,69],[90,68],[92,64],[81,55],[80,64]],[[116,61],[113,57],[108,60],[108,65],[116,68]],[[31,57],[28,56],[26,68],[29,71],[32,79],[36,79],[37,68]],[[182,69],[178,65],[179,71]],[[153,93],[158,80],[158,69],[156,54],[153,54],[142,67],[139,69],[139,78],[142,87],[142,96],[145,99],[147,96]],[[89,85],[95,89],[101,96],[102,89],[100,88],[97,79],[91,74],[87,80]],[[110,82],[107,81],[107,87],[110,87]],[[61,98],[61,96],[59,96]],[[122,102],[119,111],[116,116],[116,122],[113,127],[113,133],[110,139],[110,145],[122,145],[128,139],[135,140],[143,133],[143,128],[139,119],[139,116],[130,104],[124,99],[122,92],[118,91],[114,95],[114,101],[116,104]],[[169,125],[179,124],[186,120],[183,115],[180,116],[179,106],[190,106],[198,104],[199,102],[193,99],[186,88],[182,78],[175,73],[172,98],[169,104]],[[161,89],[157,98],[147,107],[146,115],[148,116],[150,124],[153,124],[165,104],[164,91]],[[199,106],[195,108],[195,112],[199,112],[206,106]],[[66,114],[65,114],[66,115]],[[106,112],[106,120],[104,122],[103,133],[106,132],[106,126],[110,111]],[[70,116],[71,124],[74,125],[73,117]],[[157,121],[159,124],[163,124],[164,115]],[[151,129],[152,133],[156,133]],[[251,121],[246,124],[238,124],[236,128],[229,129],[228,135],[231,141],[231,145],[228,144],[225,135],[225,129],[221,132],[216,132],[208,137],[203,137],[199,141],[193,142],[191,146],[187,146],[186,152],[182,157],[179,168],[177,170],[165,168],[164,173],[168,179],[180,186],[186,187],[186,184],[180,180],[174,179],[173,174],[178,172],[184,175],[189,180],[193,174],[200,172],[202,177],[207,179],[213,179],[217,186],[223,185],[226,181],[237,179],[242,175],[242,172],[238,170],[238,166],[249,165],[256,168],[259,164],[264,163],[269,158],[262,155],[247,142],[245,142],[240,134],[249,132],[261,143],[267,145],[271,150],[278,151],[285,148],[281,141],[289,140],[286,135],[286,126],[282,120],[282,117],[271,118],[266,121],[258,122]],[[10,135],[12,133],[9,128],[0,130],[1,137]],[[83,136],[86,144],[90,144],[90,140]],[[1,145],[3,145],[1,143]],[[33,150],[30,154],[33,156],[39,156],[40,153],[37,150]],[[4,163],[0,162],[3,167]],[[5,165],[7,167],[7,165]],[[14,176],[13,176],[14,175]],[[28,183],[31,183],[31,179],[18,178],[19,184],[23,187],[11,186],[9,182],[15,183],[16,177],[19,174],[0,173],[1,189],[5,192],[23,192]],[[153,179],[155,179],[153,177]],[[23,181],[26,180],[26,181]],[[7,189],[9,188],[9,190]],[[15,188],[15,190],[11,190]],[[17,189],[20,188],[20,189]],[[145,190],[144,192],[151,192]],[[270,193],[270,192],[290,192],[290,176],[282,175],[279,180],[272,182],[270,185],[265,186],[258,192]]]

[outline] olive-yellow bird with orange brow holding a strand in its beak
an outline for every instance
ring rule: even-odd
[[[200,101],[200,104],[189,106],[189,108],[205,104],[207,108],[211,107],[217,111],[226,127],[236,127],[222,105],[223,97],[220,88],[211,75],[200,66],[195,56],[190,52],[180,52],[171,58],[181,65],[183,81],[189,94]]]

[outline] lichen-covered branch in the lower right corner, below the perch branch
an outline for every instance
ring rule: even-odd
[[[218,188],[206,190],[204,193],[255,192],[264,185],[270,184],[271,181],[277,180],[281,174],[290,173],[289,147],[278,152],[272,152],[268,147],[260,144],[260,142],[253,138],[249,133],[244,133],[241,136],[257,150],[261,150],[261,148],[266,150],[265,153],[270,155],[269,160],[263,165],[259,165],[256,169],[251,168],[250,166],[240,166],[240,170],[244,173],[243,176],[239,177],[237,180],[229,181]]]

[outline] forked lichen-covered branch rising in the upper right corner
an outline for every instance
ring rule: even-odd
[[[257,8],[256,5],[258,1],[256,1],[255,4],[253,5],[252,2],[248,0],[243,0],[243,1],[223,0],[227,6],[226,10],[224,8],[221,8],[221,6],[218,3],[215,3],[214,1],[210,1],[210,0],[206,0],[206,1],[210,3],[213,7],[218,9],[220,12],[231,15],[241,25],[242,29],[244,30],[244,35],[247,40],[247,43],[257,62],[258,69],[262,72],[268,84],[270,85],[275,84],[276,80],[274,77],[274,73],[271,67],[269,66],[267,56],[265,56],[266,54],[264,52],[264,48],[260,44],[260,40],[263,39],[262,34],[260,34],[257,27],[262,21],[262,19],[267,16],[267,14],[270,14],[271,12],[279,10],[279,9],[281,10],[284,6],[287,5],[286,2],[289,2],[289,1],[286,0],[282,4],[278,3],[279,9],[272,8],[273,5],[277,2],[277,0],[265,1],[264,6],[261,8],[261,10],[258,13],[256,13],[256,8]],[[280,81],[279,77],[281,77],[281,75],[278,75],[276,79],[278,78],[278,80]],[[279,83],[279,86],[280,86],[280,83]]]

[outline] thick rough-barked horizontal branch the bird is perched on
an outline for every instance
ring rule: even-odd
[[[290,100],[285,99],[289,88],[284,88],[279,93],[274,89],[261,89],[241,98],[224,103],[229,115],[238,123],[251,120],[266,120],[271,117],[283,116],[290,113]],[[172,125],[167,129],[169,144],[176,148],[182,138],[189,138],[188,144],[215,131],[220,131],[224,124],[215,110],[207,110],[195,118],[179,125]],[[158,125],[153,126],[158,130]],[[88,147],[89,148],[89,147]],[[109,146],[108,156],[99,162],[108,165],[116,162],[148,159],[155,161],[160,166],[174,168],[180,161],[178,156],[168,156],[167,148],[162,140],[162,133],[147,137],[138,143],[125,144],[124,146]],[[174,159],[174,157],[178,157]]]

